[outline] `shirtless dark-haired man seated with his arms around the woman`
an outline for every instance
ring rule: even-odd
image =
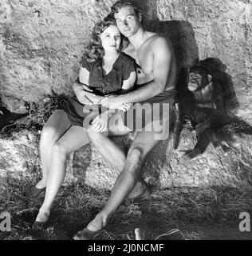
[[[116,108],[124,103],[153,102],[169,103],[170,114],[159,117],[163,120],[170,118],[169,125],[174,122],[172,104],[175,98],[176,61],[171,42],[167,41],[160,34],[144,30],[141,24],[142,11],[130,1],[118,1],[112,6],[112,15],[122,34],[129,39],[129,45],[124,52],[136,59],[141,67],[142,73],[138,74],[136,90],[108,98],[108,101],[101,102],[108,108]],[[90,94],[90,92],[89,92]],[[153,105],[152,105],[153,106]],[[127,124],[128,125],[128,124]],[[110,129],[111,127],[108,127]],[[93,238],[104,226],[112,213],[120,206],[130,194],[142,194],[144,182],[140,179],[140,168],[144,163],[147,154],[161,139],[156,139],[156,131],[138,131],[127,156],[103,134],[89,134],[90,139],[100,154],[104,156],[113,166],[117,166],[120,175],[116,179],[107,204],[92,222],[79,231],[74,239],[85,240]],[[138,182],[138,183],[137,183]],[[137,186],[138,184],[138,186]]]

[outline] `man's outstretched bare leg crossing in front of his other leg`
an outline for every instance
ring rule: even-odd
[[[112,189],[110,198],[100,213],[96,214],[96,218],[87,226],[88,230],[96,231],[106,226],[108,218],[120,206],[124,198],[130,193],[136,185],[140,177],[140,168],[147,154],[159,142],[155,139],[155,134],[152,132],[141,131],[136,135],[132,146],[128,150],[125,166],[123,171],[116,179]],[[84,234],[85,235],[85,234]],[[85,239],[81,236],[81,231],[77,233],[74,239]]]

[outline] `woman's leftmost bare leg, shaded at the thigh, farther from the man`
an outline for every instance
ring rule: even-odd
[[[64,110],[56,110],[45,123],[39,144],[43,176],[41,181],[36,185],[38,189],[42,189],[46,186],[54,143],[61,138],[62,134],[64,134],[70,126],[71,123]]]

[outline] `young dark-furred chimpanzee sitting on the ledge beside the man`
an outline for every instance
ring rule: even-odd
[[[187,118],[198,142],[194,149],[183,154],[180,163],[202,154],[209,142],[212,142],[222,154],[229,148],[223,134],[216,132],[229,119],[223,101],[222,87],[201,66],[191,68],[187,81],[188,90],[183,94],[183,98],[180,98],[180,106],[183,117]]]

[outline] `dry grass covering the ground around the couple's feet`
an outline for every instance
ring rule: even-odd
[[[71,239],[94,218],[109,196],[108,191],[95,190],[80,182],[63,186],[53,204],[47,229],[34,234],[30,226],[44,195],[27,201],[24,193],[31,182],[34,180],[22,178],[2,182],[0,212],[11,214],[12,230],[0,233],[0,239]],[[200,239],[203,234],[196,230],[196,226],[206,226],[207,229],[207,226],[219,224],[223,230],[234,226],[238,230],[239,214],[251,212],[251,209],[250,193],[235,189],[184,187],[156,190],[138,205],[120,206],[96,238],[133,238],[134,230],[140,228],[144,238],[154,239],[179,228],[183,238]]]

